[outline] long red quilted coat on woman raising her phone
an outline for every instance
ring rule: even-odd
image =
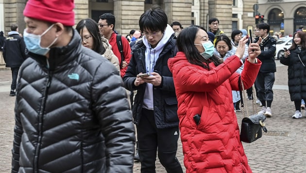
[[[211,70],[192,65],[184,52],[169,59],[178,100],[179,128],[187,173],[252,173],[239,138],[231,90],[238,90],[242,65],[233,55]],[[261,62],[246,61],[241,73],[245,87],[255,81]],[[248,74],[248,75],[246,75]],[[193,117],[199,114],[197,125]]]

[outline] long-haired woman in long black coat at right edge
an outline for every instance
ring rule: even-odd
[[[301,99],[306,100],[306,34],[304,32],[298,31],[294,34],[292,46],[281,57],[280,63],[288,66],[290,99],[295,105],[292,118],[302,118]]]

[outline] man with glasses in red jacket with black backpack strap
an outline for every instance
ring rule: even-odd
[[[100,16],[98,27],[100,34],[108,39],[109,44],[112,46],[112,51],[118,57],[120,64],[120,75],[123,77],[127,69],[127,65],[130,63],[131,47],[129,41],[121,35],[121,43],[119,43],[119,45],[122,45],[123,48],[123,54],[121,56],[117,43],[117,34],[114,31],[115,21],[115,16],[113,14],[104,13]]]

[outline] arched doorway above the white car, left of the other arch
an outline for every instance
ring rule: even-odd
[[[270,35],[275,33],[283,33],[284,27],[281,24],[284,23],[284,12],[278,8],[273,8],[268,14],[268,24],[270,25]]]

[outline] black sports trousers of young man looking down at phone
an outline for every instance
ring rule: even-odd
[[[157,128],[153,110],[143,108],[137,125],[141,173],[155,173],[157,148],[159,161],[167,173],[183,173],[181,164],[176,158],[179,136],[178,127]]]

